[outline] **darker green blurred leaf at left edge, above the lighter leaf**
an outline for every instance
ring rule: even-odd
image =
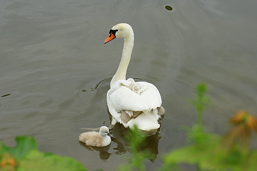
[[[3,153],[10,153],[17,160],[26,156],[31,150],[37,149],[38,144],[34,137],[29,136],[17,136],[15,138],[17,145],[15,147],[7,147],[3,143],[0,147],[0,156]]]

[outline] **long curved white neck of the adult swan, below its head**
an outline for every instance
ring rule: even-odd
[[[126,80],[126,73],[129,66],[129,61],[130,61],[133,46],[134,46],[134,33],[132,32],[128,37],[124,38],[121,62],[115,75],[112,78],[111,87],[119,80]]]

